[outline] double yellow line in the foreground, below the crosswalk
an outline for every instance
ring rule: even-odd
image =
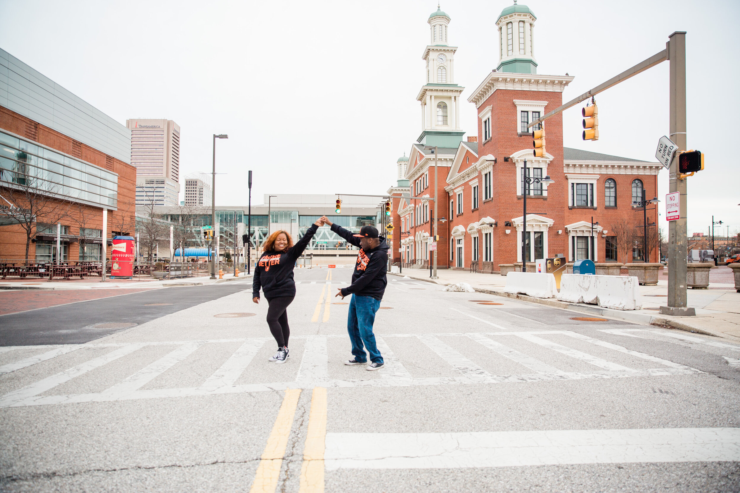
[[[275,425],[267,439],[257,468],[255,481],[249,493],[275,493],[280,479],[285,450],[298,405],[300,389],[285,391],[283,404],[277,412]],[[299,493],[323,493],[324,448],[326,443],[326,387],[314,387],[306,444],[303,446],[303,466],[300,469]]]

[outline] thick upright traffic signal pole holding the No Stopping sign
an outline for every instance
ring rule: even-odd
[[[679,149],[686,149],[686,33],[676,31],[668,38],[670,62],[670,135]],[[696,315],[687,307],[687,195],[686,180],[679,176],[678,153],[670,162],[670,191],[679,192],[680,218],[668,222],[668,305],[660,307],[663,315]]]

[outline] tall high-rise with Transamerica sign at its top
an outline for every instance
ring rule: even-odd
[[[180,193],[180,126],[172,120],[126,120],[136,205],[177,205]]]

